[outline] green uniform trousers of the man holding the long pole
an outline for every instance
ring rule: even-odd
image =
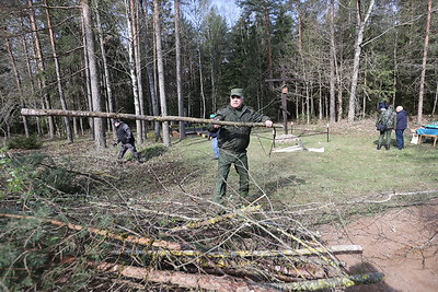
[[[230,198],[226,198],[227,178],[232,164],[234,164],[234,168],[239,174],[239,195],[243,198],[247,197],[247,192],[250,189],[250,176],[247,173],[249,167],[246,151],[233,153],[220,149],[218,160],[218,175],[216,178],[215,194],[212,196],[212,200],[218,203],[224,203],[226,200],[232,200],[232,195],[229,196]]]

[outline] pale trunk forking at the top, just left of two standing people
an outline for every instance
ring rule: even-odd
[[[360,63],[360,52],[361,52],[361,45],[364,40],[364,31],[365,26],[367,25],[368,19],[371,15],[372,9],[374,7],[376,0],[370,0],[367,14],[365,15],[364,20],[361,17],[361,7],[360,0],[356,1],[356,15],[357,15],[357,35],[355,40],[355,57],[353,60],[353,73],[351,73],[351,87],[349,93],[349,102],[348,102],[348,121],[351,122],[355,120],[355,109],[357,103],[357,82],[359,78],[359,63]]]

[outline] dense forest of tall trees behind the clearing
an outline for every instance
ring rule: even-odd
[[[275,120],[287,109],[289,120],[351,122],[376,114],[382,98],[403,105],[419,125],[436,113],[431,0],[238,0],[233,22],[208,0],[0,3],[5,138],[72,141],[91,129],[105,147],[110,120],[24,118],[20,108],[207,118],[232,87],[244,87],[245,103]],[[169,145],[163,124],[137,120],[137,140],[152,126]]]

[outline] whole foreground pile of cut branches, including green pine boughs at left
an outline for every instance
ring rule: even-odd
[[[41,160],[37,165],[33,180],[39,179],[36,170],[46,176],[59,171]],[[244,208],[188,194],[136,199],[99,174],[66,172],[92,177],[117,196],[59,192],[48,184],[47,191],[35,192],[20,173],[20,188],[2,198],[0,285],[283,291],[382,280],[381,273],[348,275],[336,254],[361,253],[360,246],[324,246],[298,217],[274,210],[266,196]],[[16,205],[24,190],[26,199]]]

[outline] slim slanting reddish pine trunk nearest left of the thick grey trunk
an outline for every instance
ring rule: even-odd
[[[54,61],[55,61],[56,83],[58,85],[59,101],[61,102],[61,108],[64,110],[67,110],[68,108],[67,108],[66,97],[64,95],[64,89],[62,89],[62,82],[61,82],[61,69],[59,68],[59,60],[58,60],[58,54],[57,54],[57,48],[56,48],[56,43],[55,43],[54,28],[51,25],[50,11],[48,9],[47,0],[44,0],[44,3],[46,5],[47,26],[48,26],[48,32],[49,32],[49,36],[50,36],[51,51],[53,51]],[[69,143],[72,143],[73,135],[71,132],[70,118],[64,117],[62,120],[64,120],[64,124],[66,127],[67,141]]]

